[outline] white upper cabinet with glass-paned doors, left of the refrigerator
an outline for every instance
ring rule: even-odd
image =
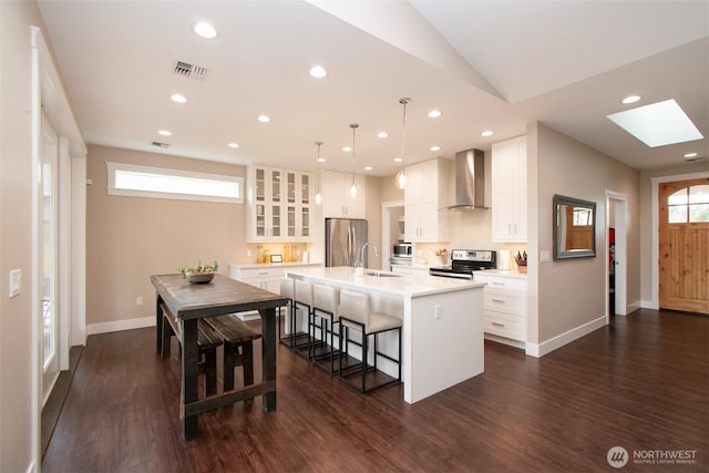
[[[312,238],[310,174],[250,166],[247,187],[247,241],[308,241]]]

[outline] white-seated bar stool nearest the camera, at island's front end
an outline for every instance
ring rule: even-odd
[[[349,331],[356,330],[362,335],[362,342],[358,343],[349,338]],[[379,335],[395,330],[399,358],[379,351]],[[369,366],[369,337],[373,336],[373,364]],[[361,361],[347,367],[342,366],[342,360],[348,357],[349,345],[359,346],[362,350]],[[384,358],[397,364],[398,377],[392,378],[377,369],[378,357]],[[369,296],[362,292],[352,292],[342,289],[340,291],[340,363],[339,378],[359,392],[367,393],[386,385],[401,382],[401,319],[386,313],[372,312],[369,310]],[[370,374],[368,377],[368,374]],[[358,378],[361,377],[361,380]],[[373,382],[368,385],[367,379]]]

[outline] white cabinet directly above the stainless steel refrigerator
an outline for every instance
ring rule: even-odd
[[[364,176],[354,175],[357,197],[350,195],[352,175],[325,171],[322,173],[322,213],[325,218],[366,218]]]

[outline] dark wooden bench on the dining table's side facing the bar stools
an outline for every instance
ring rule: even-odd
[[[234,389],[234,369],[244,368],[244,385],[254,384],[254,340],[261,338],[234,316],[201,319],[216,331],[224,342],[224,391]]]

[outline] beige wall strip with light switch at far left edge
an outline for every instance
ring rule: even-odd
[[[30,25],[43,28],[37,4],[0,1],[0,471],[24,472],[37,452],[32,380],[32,128]],[[7,297],[9,271],[22,270],[22,292]],[[39,460],[39,459],[37,459]]]

